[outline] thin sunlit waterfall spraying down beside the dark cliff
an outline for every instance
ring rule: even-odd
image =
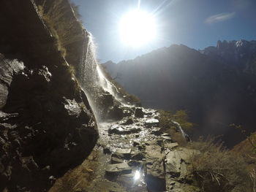
[[[96,59],[96,47],[91,34],[85,38],[83,43],[83,55],[80,60],[79,66],[79,81],[80,85],[85,91],[86,96],[89,99],[92,110],[97,120],[99,120],[100,110],[99,109],[99,97],[104,93],[110,93],[113,98],[121,104],[123,98],[118,91],[118,88],[105,77],[104,72],[98,64]]]

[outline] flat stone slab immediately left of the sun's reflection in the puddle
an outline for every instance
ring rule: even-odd
[[[108,176],[116,176],[118,174],[130,174],[132,169],[127,163],[108,164],[105,172]]]

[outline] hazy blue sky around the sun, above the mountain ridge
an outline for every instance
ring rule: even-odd
[[[256,0],[141,0],[140,9],[154,14],[157,37],[137,48],[121,42],[118,26],[122,15],[138,7],[138,0],[72,1],[80,6],[102,62],[132,59],[172,44],[203,49],[217,40],[256,40]]]

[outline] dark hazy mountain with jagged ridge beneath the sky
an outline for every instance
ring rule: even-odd
[[[243,137],[230,123],[254,129],[256,120],[256,41],[219,41],[194,50],[171,45],[134,60],[103,64],[143,106],[187,110],[195,136],[224,135],[227,146]]]

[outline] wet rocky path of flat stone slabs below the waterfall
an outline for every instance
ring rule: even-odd
[[[162,132],[157,111],[126,110],[128,117],[99,124],[97,147],[49,192],[200,191],[190,164],[199,152],[179,146],[176,138]]]

